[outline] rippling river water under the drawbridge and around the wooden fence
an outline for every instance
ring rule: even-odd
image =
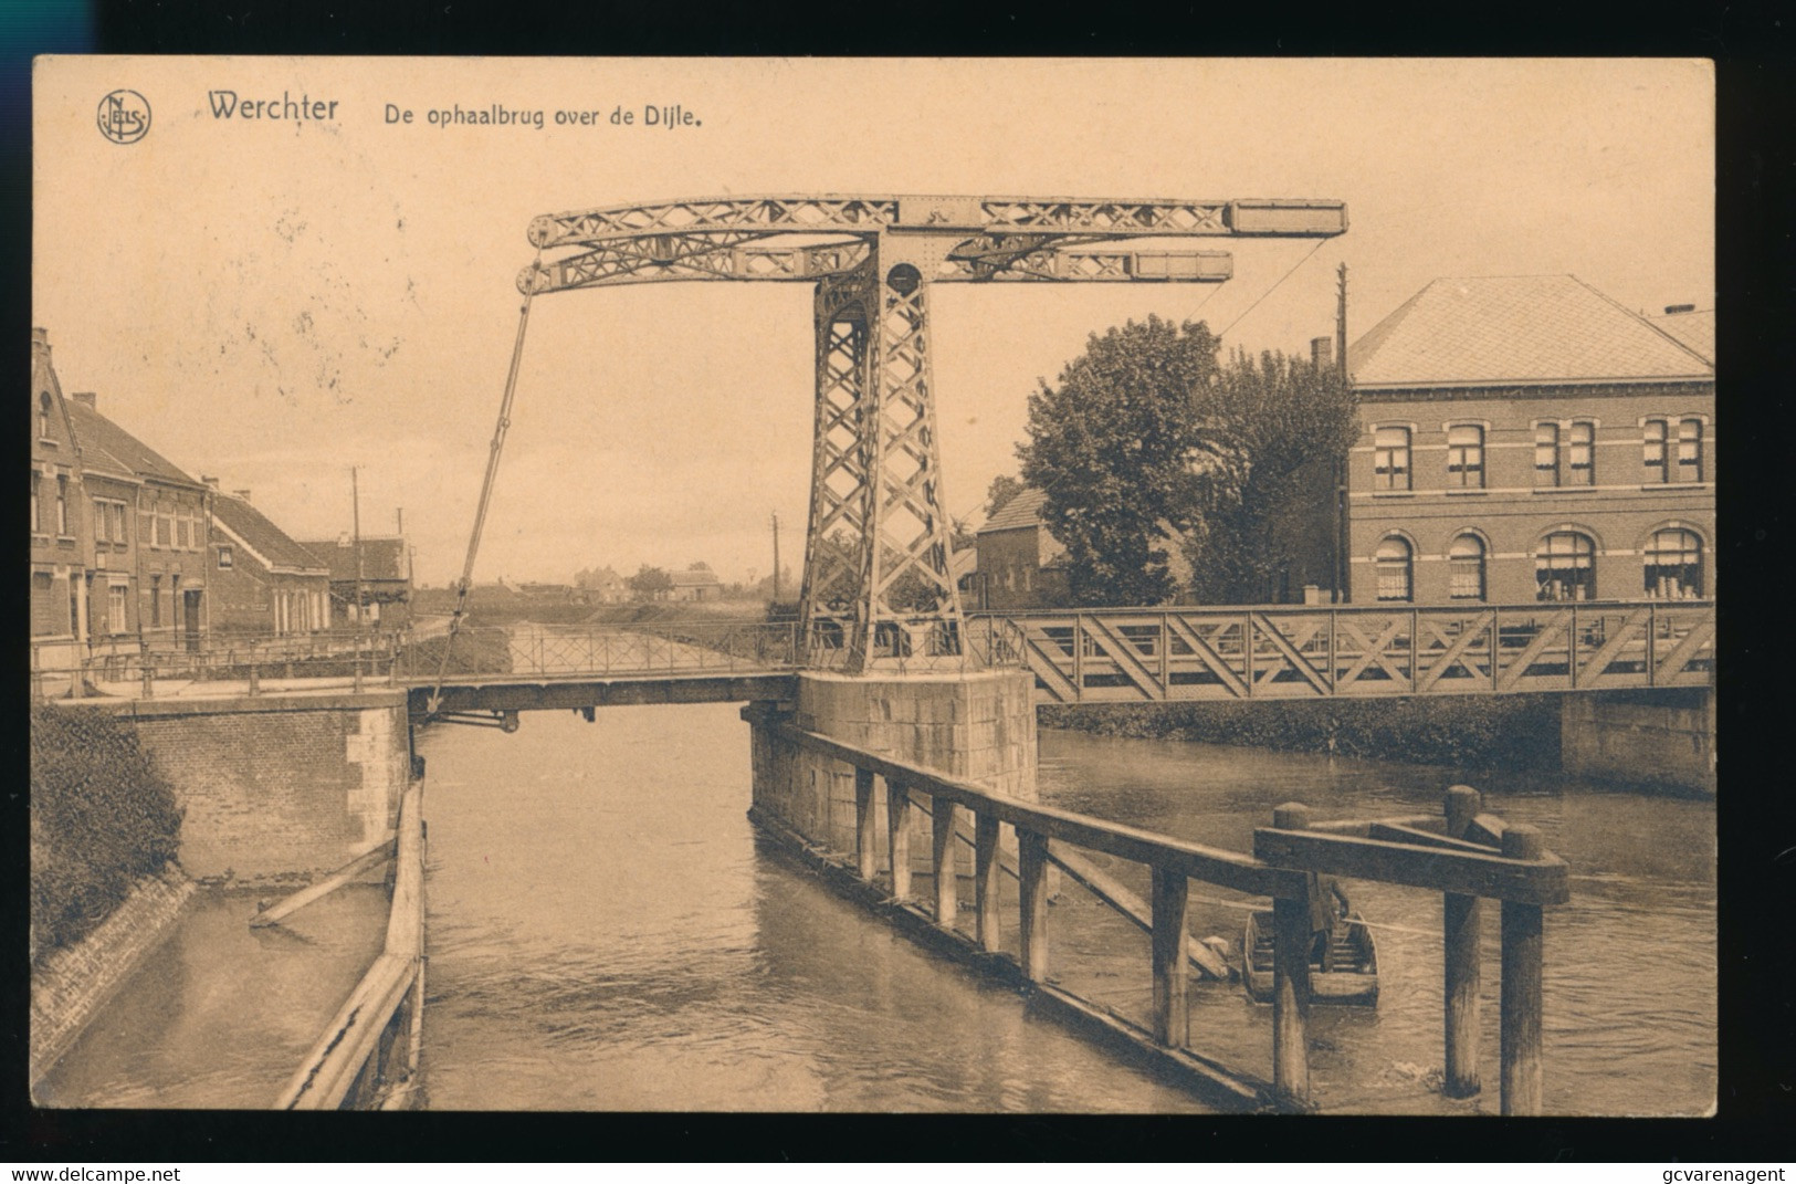
[[[1043,801],[1250,850],[1272,807],[1435,810],[1473,782],[1573,871],[1546,913],[1548,1112],[1699,1114],[1715,1098],[1712,801],[1563,776],[1042,733]],[[433,1109],[1097,1110],[1203,1107],[869,922],[756,846],[735,706],[532,713],[438,728],[429,758]],[[1117,875],[1146,888],[1144,873]],[[1349,884],[1378,932],[1376,1010],[1316,1008],[1316,1101],[1494,1112],[1498,925],[1487,906],[1485,1092],[1440,1096],[1440,897]],[[1239,941],[1245,904],[1193,884],[1191,925]],[[1146,1017],[1148,943],[1067,882],[1051,976]],[[1270,1076],[1272,1013],[1193,983],[1194,1049]]]

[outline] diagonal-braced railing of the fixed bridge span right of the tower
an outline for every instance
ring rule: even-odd
[[[1713,600],[982,614],[1056,702],[1708,686]]]

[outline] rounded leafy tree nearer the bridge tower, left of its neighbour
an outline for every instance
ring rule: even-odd
[[[1056,386],[1029,395],[1022,476],[1067,548],[1074,604],[1158,604],[1176,591],[1167,544],[1194,525],[1193,471],[1218,340],[1149,314],[1087,340]]]

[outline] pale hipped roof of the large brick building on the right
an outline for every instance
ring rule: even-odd
[[[1347,350],[1354,386],[1712,379],[1713,365],[1572,275],[1442,278]]]

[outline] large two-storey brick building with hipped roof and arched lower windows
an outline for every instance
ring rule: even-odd
[[[1670,320],[1570,275],[1442,278],[1360,338],[1349,598],[1713,596],[1712,345]]]

